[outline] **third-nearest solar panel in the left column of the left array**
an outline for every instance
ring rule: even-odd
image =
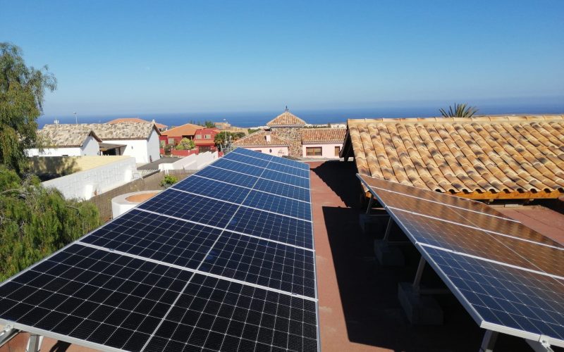
[[[238,206],[167,189],[142,203],[139,208],[206,225],[225,227]]]

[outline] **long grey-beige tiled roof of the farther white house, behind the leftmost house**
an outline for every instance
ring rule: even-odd
[[[92,130],[102,141],[116,139],[147,139],[152,130],[160,134],[153,122],[123,122],[110,125],[108,123],[80,123],[78,125],[44,125],[43,130],[54,130],[59,128],[72,128],[81,126]]]

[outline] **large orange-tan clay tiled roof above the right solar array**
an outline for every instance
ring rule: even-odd
[[[564,115],[348,120],[358,172],[473,199],[564,194]]]

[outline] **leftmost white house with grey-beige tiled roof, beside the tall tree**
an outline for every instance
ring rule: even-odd
[[[27,149],[27,156],[97,156],[102,139],[83,125],[58,125],[59,128],[37,131],[42,150]]]

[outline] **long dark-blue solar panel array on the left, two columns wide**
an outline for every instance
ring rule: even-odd
[[[235,149],[6,280],[0,322],[111,351],[318,351],[309,166]]]

